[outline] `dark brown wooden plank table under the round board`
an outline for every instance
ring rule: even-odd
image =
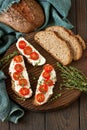
[[[73,31],[87,41],[87,0],[72,0],[68,18]],[[17,125],[0,122],[0,130],[87,130],[87,95],[82,94],[69,107],[55,112],[27,110]]]

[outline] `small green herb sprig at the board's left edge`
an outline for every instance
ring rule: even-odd
[[[18,52],[17,52],[17,51],[14,51],[12,54],[9,54],[9,55],[3,57],[3,58],[0,60],[0,68],[1,68],[1,67],[5,68],[5,67],[8,65],[9,61],[11,60],[11,58],[14,57],[14,56],[17,55],[17,54],[18,54]],[[5,66],[5,67],[4,67],[4,66]]]

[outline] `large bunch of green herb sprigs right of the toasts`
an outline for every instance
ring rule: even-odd
[[[87,77],[82,72],[75,67],[63,66],[58,62],[57,66],[61,71],[61,77],[63,79],[62,86],[87,92]]]

